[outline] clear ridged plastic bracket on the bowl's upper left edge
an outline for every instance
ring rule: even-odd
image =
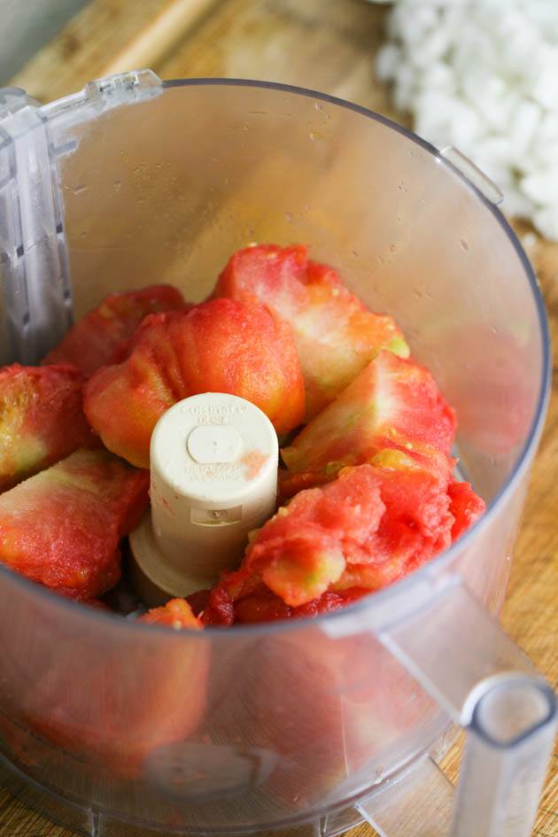
[[[58,161],[77,145],[73,129],[162,91],[156,74],[138,70],[89,81],[50,105],[21,89],[0,92],[0,305],[10,362],[40,360],[72,324]]]

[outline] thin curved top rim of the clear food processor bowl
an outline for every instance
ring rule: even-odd
[[[317,628],[326,621],[328,624],[332,624],[334,620],[340,620],[346,618],[347,616],[350,616],[351,618],[358,617],[371,611],[376,607],[376,605],[380,603],[384,604],[385,601],[390,599],[390,597],[406,592],[420,579],[429,575],[434,566],[440,570],[440,568],[443,568],[446,564],[452,562],[453,557],[458,553],[458,551],[461,552],[463,548],[469,546],[476,537],[477,533],[484,530],[484,528],[492,522],[495,515],[499,513],[505,500],[508,499],[510,493],[515,489],[516,484],[522,479],[525,471],[531,467],[532,455],[535,453],[539,443],[540,434],[546,418],[546,408],[548,406],[548,399],[550,395],[552,374],[550,334],[546,316],[546,306],[539,289],[539,283],[537,282],[531,262],[523,250],[522,244],[504,215],[500,212],[500,209],[493,204],[492,201],[486,198],[483,192],[470,182],[469,178],[457,167],[453,166],[453,164],[446,159],[434,145],[383,114],[376,113],[375,111],[372,111],[362,105],[356,105],[353,102],[348,102],[345,99],[330,96],[328,93],[321,93],[313,89],[283,84],[276,81],[257,81],[252,79],[234,78],[189,78],[170,79],[163,81],[162,85],[163,90],[181,87],[245,87],[275,90],[277,92],[291,93],[302,97],[318,99],[319,101],[328,103],[329,105],[336,105],[337,107],[344,108],[345,110],[359,113],[361,116],[369,120],[381,123],[386,128],[391,128],[402,136],[405,136],[410,142],[415,143],[415,145],[420,146],[423,150],[430,153],[430,155],[437,160],[439,165],[447,167],[453,172],[453,174],[459,177],[466,187],[477,196],[482,204],[484,204],[484,207],[492,213],[492,216],[497,223],[500,224],[500,228],[508,237],[509,243],[514,248],[515,254],[521,262],[523,272],[531,289],[531,295],[535,303],[539,321],[539,337],[542,350],[539,394],[537,398],[537,407],[531,421],[531,427],[523,444],[522,450],[517,454],[514,467],[511,470],[508,479],[500,486],[499,491],[496,492],[487,506],[484,515],[482,515],[477,522],[461,536],[460,539],[432,558],[430,562],[427,562],[426,564],[423,564],[422,567],[414,570],[408,576],[399,579],[399,581],[396,581],[393,584],[370,594],[369,596],[363,596],[359,601],[354,602],[346,608],[339,608],[329,614],[323,614],[321,616],[305,616],[292,620],[277,620],[276,622],[238,624],[234,626],[232,631],[231,628],[227,626],[213,625],[205,628],[203,631],[188,628],[176,631],[174,628],[167,625],[144,624],[137,620],[122,618],[119,614],[112,613],[110,611],[86,606],[84,607],[82,602],[66,599],[64,596],[52,593],[47,587],[35,584],[35,582],[27,579],[27,577],[20,576],[18,573],[8,569],[2,564],[0,564],[0,581],[3,577],[9,577],[9,580],[11,580],[15,585],[21,585],[23,589],[27,590],[27,593],[31,593],[33,596],[38,596],[45,602],[48,601],[54,610],[59,608],[60,612],[65,611],[68,616],[74,615],[77,618],[79,618],[79,614],[81,613],[81,617],[84,620],[89,620],[91,624],[96,621],[99,625],[104,624],[106,626],[111,624],[114,630],[132,630],[136,633],[136,635],[138,631],[149,632],[151,636],[154,636],[157,632],[159,632],[159,634],[164,634],[167,637],[169,634],[173,634],[174,636],[180,636],[182,639],[188,639],[189,641],[194,639],[194,637],[198,640],[207,641],[213,637],[228,637],[229,640],[233,640],[235,637],[256,637],[258,635],[270,636],[278,633],[282,634],[291,631],[301,631],[309,629],[310,627]]]

